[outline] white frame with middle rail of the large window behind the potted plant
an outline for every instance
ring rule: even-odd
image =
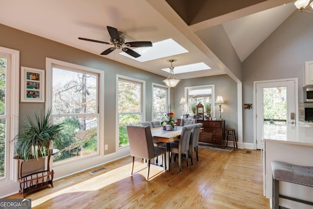
[[[49,108],[52,107],[52,96],[53,96],[53,93],[52,93],[53,70],[52,69],[58,66],[60,66],[60,68],[62,67],[62,69],[64,70],[97,74],[98,76],[98,79],[97,79],[98,92],[97,92],[97,101],[96,101],[97,108],[96,108],[96,113],[93,115],[98,116],[98,126],[97,126],[98,141],[97,141],[97,153],[96,154],[83,156],[83,157],[76,158],[76,159],[68,159],[68,160],[65,159],[60,162],[55,162],[53,163],[53,165],[72,164],[72,163],[82,161],[83,159],[88,159],[88,158],[97,157],[99,155],[104,155],[104,144],[105,144],[104,142],[104,96],[103,96],[104,72],[101,70],[96,70],[96,69],[92,69],[92,68],[81,66],[81,65],[76,65],[76,64],[67,63],[67,62],[60,61],[60,60],[46,58],[46,78],[50,78],[50,79],[46,79],[45,110],[48,110]],[[53,114],[53,115],[68,116],[67,114]],[[82,116],[82,115],[85,115],[85,114],[73,114],[73,116]]]

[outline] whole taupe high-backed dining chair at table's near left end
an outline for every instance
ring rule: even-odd
[[[132,172],[134,173],[134,159],[135,157],[147,160],[147,175],[146,180],[149,179],[150,160],[160,155],[163,156],[163,168],[165,170],[165,153],[166,148],[157,147],[153,145],[150,126],[127,126],[127,134],[129,139],[129,146],[131,150],[131,156],[133,157]]]

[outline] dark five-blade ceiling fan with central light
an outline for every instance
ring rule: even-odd
[[[108,45],[114,45],[113,47],[110,47],[103,51],[101,55],[107,55],[114,51],[115,49],[120,49],[122,48],[123,51],[125,51],[127,54],[137,58],[140,57],[140,54],[135,52],[134,50],[128,48],[128,47],[149,47],[152,46],[152,43],[149,41],[145,42],[126,42],[125,36],[123,36],[123,33],[118,31],[115,27],[107,26],[108,32],[111,36],[110,42],[103,42],[103,41],[97,41],[97,40],[92,40],[92,39],[86,39],[86,38],[81,38],[78,37],[80,40],[85,40],[85,41],[90,41],[90,42],[96,42],[100,44],[108,44]]]

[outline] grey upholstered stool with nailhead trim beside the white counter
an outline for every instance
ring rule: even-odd
[[[271,162],[273,173],[272,209],[279,209],[279,198],[313,206],[313,202],[279,194],[279,181],[313,187],[313,167],[279,161]],[[283,207],[282,207],[283,208]]]

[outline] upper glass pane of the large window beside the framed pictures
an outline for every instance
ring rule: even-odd
[[[97,76],[53,68],[53,114],[97,113]]]

